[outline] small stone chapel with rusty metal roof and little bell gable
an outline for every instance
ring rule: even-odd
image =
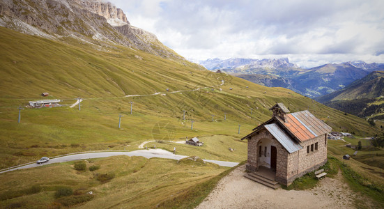
[[[332,128],[307,110],[290,113],[282,103],[270,110],[272,118],[243,137],[248,139],[245,176],[258,182],[258,176],[268,178],[264,181],[271,181],[271,187],[290,185],[327,162],[327,134]]]

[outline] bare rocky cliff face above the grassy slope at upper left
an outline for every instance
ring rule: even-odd
[[[123,10],[100,0],[2,0],[0,26],[54,40],[114,44],[184,61],[149,33],[131,26]]]

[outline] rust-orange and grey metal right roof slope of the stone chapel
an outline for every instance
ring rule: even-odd
[[[283,125],[300,141],[313,139],[332,130],[307,110],[287,114]]]

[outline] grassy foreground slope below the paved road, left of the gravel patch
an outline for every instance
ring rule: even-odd
[[[80,171],[74,168],[77,163],[4,173],[0,176],[0,207],[168,208],[167,202],[181,207],[185,199],[201,198],[200,194],[190,194],[190,189],[225,171],[216,164],[190,159],[177,162],[116,156],[83,161],[86,169]],[[90,171],[91,167],[98,169]],[[63,188],[72,194],[55,198]],[[87,194],[90,191],[92,195]]]

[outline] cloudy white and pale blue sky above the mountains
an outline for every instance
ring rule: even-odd
[[[187,59],[384,63],[383,0],[109,0]]]

